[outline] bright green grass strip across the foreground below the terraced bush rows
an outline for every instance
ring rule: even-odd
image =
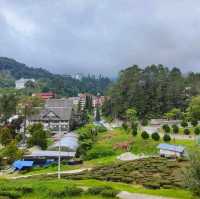
[[[95,187],[95,186],[110,186],[120,191],[128,191],[132,193],[144,193],[149,195],[170,197],[176,199],[194,199],[192,194],[186,190],[180,189],[160,189],[160,190],[149,190],[141,186],[129,185],[123,183],[104,182],[97,180],[38,180],[38,179],[23,179],[23,180],[0,180],[0,189],[6,187],[9,190],[13,190],[16,187],[31,187],[33,192],[25,193],[20,199],[44,199],[49,197],[49,192],[62,191],[67,186],[78,186],[78,187]],[[78,197],[69,197],[72,199],[104,199],[102,196],[91,196],[88,194],[82,194]]]

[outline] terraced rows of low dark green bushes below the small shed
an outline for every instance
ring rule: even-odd
[[[80,174],[65,175],[65,178],[124,182],[139,184],[150,189],[183,188],[182,172],[186,165],[186,161],[151,157],[100,166]]]

